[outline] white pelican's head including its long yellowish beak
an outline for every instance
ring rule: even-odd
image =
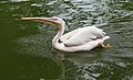
[[[65,22],[58,18],[58,16],[52,16],[52,18],[21,18],[21,20],[32,20],[35,22],[41,22],[45,24],[50,24],[52,26],[61,27],[65,25]]]

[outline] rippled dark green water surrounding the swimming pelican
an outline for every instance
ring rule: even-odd
[[[112,48],[63,53],[57,30],[22,16],[59,16],[65,32],[99,25]],[[133,80],[132,0],[0,1],[0,80]]]

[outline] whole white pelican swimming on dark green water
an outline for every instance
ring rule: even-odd
[[[110,38],[103,30],[92,25],[80,27],[64,33],[65,22],[58,18],[21,18],[21,20],[31,20],[55,26],[58,28],[57,35],[52,39],[52,46],[55,49],[63,52],[80,52],[91,50],[98,46],[109,47],[104,45],[104,41]]]

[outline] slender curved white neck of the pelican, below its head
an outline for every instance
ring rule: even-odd
[[[59,28],[58,28],[58,33],[57,33],[57,35],[53,37],[53,39],[52,39],[52,45],[53,45],[53,47],[54,48],[59,48],[60,46],[60,43],[59,43],[59,38],[63,35],[63,33],[64,33],[64,25],[61,25],[61,26],[59,26]]]

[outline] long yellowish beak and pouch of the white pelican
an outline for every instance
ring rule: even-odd
[[[21,18],[21,20],[31,20],[35,22],[41,22],[50,25],[57,25],[58,23],[53,21],[52,18]]]

